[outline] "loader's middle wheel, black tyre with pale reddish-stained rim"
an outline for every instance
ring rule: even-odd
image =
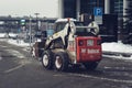
[[[68,68],[68,55],[66,53],[57,53],[55,55],[55,69],[65,72]]]

